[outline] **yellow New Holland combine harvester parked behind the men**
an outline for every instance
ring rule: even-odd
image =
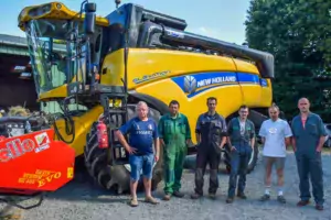
[[[140,100],[158,121],[177,99],[192,140],[211,96],[227,120],[247,105],[259,127],[264,117],[258,112],[273,100],[273,55],[185,32],[184,20],[132,3],[106,18],[95,11],[96,4],[86,1],[81,12],[60,2],[26,7],[19,28],[26,33],[39,101],[55,118],[56,139],[83,155],[100,186],[119,194],[129,189],[128,155],[113,133],[134,117]],[[108,128],[107,148],[98,146],[99,120]],[[249,170],[257,155],[256,146]],[[223,157],[229,169],[227,151]],[[162,160],[153,173],[154,188],[162,180]]]

